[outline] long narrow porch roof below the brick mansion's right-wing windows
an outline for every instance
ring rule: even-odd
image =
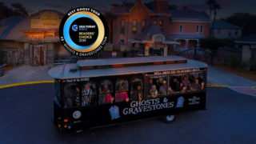
[[[182,39],[200,39],[206,38],[201,34],[186,34],[186,33],[171,33],[169,35],[170,38],[182,38]]]

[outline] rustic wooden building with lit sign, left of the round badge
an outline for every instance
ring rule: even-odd
[[[7,63],[32,66],[53,64],[54,58],[69,57],[60,44],[58,27],[63,17],[54,10],[42,10],[30,17],[11,17],[0,23],[0,49]]]

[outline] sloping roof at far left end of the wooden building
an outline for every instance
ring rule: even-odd
[[[24,36],[22,30],[30,30],[29,17],[10,17],[0,21],[0,39],[20,39]]]

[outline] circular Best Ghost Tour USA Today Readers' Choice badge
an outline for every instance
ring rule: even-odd
[[[77,56],[91,56],[102,50],[109,34],[103,15],[90,7],[70,10],[59,27],[59,37],[66,50]]]

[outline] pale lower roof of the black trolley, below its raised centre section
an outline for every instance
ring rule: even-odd
[[[169,56],[169,57],[172,57],[172,56]],[[154,58],[155,60],[157,60],[158,58],[161,58],[161,57],[150,57],[150,58]],[[126,59],[129,59],[129,58],[126,58]],[[103,61],[104,60],[102,60],[102,62]],[[154,71],[181,70],[181,69],[184,70],[184,69],[206,68],[206,67],[207,65],[205,63],[190,60],[190,59],[188,59],[186,63],[152,65],[152,66],[128,66],[128,67],[118,67],[118,68],[102,68],[102,69],[89,69],[89,70],[76,70],[76,71],[74,69],[78,69],[77,64],[66,64],[62,66],[55,66],[54,68],[49,70],[48,74],[50,74],[51,77],[58,78],[58,79],[94,78],[94,77],[101,77],[101,76],[141,74],[141,73],[150,73]]]

